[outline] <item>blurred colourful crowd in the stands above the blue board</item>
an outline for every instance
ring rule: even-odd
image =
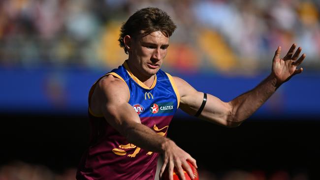
[[[319,0],[1,0],[0,67],[112,69],[127,58],[120,26],[148,6],[178,27],[164,68],[269,70],[277,46],[297,43],[307,54],[304,67],[320,69]]]

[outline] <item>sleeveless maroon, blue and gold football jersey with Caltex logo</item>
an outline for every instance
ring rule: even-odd
[[[148,88],[130,72],[126,61],[108,74],[128,85],[128,103],[139,115],[141,123],[166,136],[180,101],[172,77],[159,70],[152,87]],[[90,90],[89,102],[95,85]],[[78,167],[78,180],[155,179],[158,153],[143,150],[128,142],[102,115],[94,115],[90,106],[89,118],[90,146]]]

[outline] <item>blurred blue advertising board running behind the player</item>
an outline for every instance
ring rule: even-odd
[[[107,71],[106,71],[107,72]],[[104,72],[81,68],[0,69],[0,113],[86,115],[88,91]],[[222,76],[172,74],[195,89],[230,101],[268,74]],[[281,86],[254,117],[320,117],[320,73],[302,73]],[[177,116],[185,116],[178,112]]]

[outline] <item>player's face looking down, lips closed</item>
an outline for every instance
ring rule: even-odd
[[[152,32],[137,38],[131,44],[132,64],[139,73],[150,77],[158,72],[167,54],[169,38],[161,31]]]

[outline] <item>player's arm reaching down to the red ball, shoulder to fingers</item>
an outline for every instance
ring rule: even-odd
[[[141,124],[138,114],[128,104],[128,86],[122,80],[108,75],[96,85],[90,100],[90,108],[94,114],[103,114],[107,122],[120,132],[128,142],[144,149],[164,154],[164,164],[169,167],[169,177],[172,178],[173,167],[184,180],[184,167],[192,177],[192,169],[186,162],[195,164],[190,154],[179,148],[170,139],[160,136],[151,128]]]

